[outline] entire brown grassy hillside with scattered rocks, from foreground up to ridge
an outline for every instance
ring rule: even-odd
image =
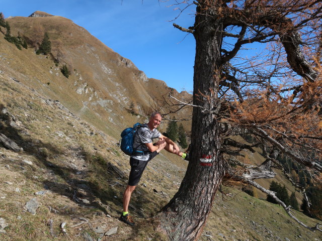
[[[187,93],[147,78],[70,20],[33,16],[8,19],[28,49],[0,32],[0,240],[166,240],[151,216],[178,190],[186,161],[161,152],[149,163],[131,201],[131,227],[118,220],[129,158],[116,144],[122,129],[146,121],[151,101]],[[44,32],[53,56],[62,53],[58,66],[32,47]],[[69,78],[61,64],[73,70]],[[131,101],[137,115],[128,110]],[[249,158],[260,163],[259,153]],[[279,205],[240,189],[222,185],[200,240],[322,240]]]

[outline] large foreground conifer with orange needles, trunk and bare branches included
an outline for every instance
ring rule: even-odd
[[[322,153],[319,116],[322,2],[176,3],[182,4],[178,7],[181,10],[196,8],[194,23],[174,24],[195,39],[192,151],[178,192],[155,216],[160,220],[157,228],[169,239],[192,241],[202,235],[223,178],[247,182],[270,194],[253,181],[254,176],[243,175],[255,168],[236,164],[238,151],[231,150],[243,149],[245,143],[233,140],[225,144],[227,136],[251,134],[254,144],[263,147],[263,152],[272,150],[267,153],[264,166],[268,161],[279,166],[276,157],[283,154],[314,171],[314,179],[320,181],[322,166],[311,153],[318,157]],[[250,57],[245,53],[246,46],[256,48],[263,43],[267,44],[265,54]],[[200,165],[204,155],[209,162]],[[271,165],[266,171],[272,173]],[[298,221],[285,203],[279,203]],[[309,229],[321,230],[318,225]]]

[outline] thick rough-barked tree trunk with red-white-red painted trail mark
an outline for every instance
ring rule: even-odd
[[[212,10],[213,11],[213,10]],[[222,24],[215,13],[197,7],[195,21],[194,107],[191,161],[179,191],[158,214],[171,240],[196,240],[211,211],[224,175],[221,140],[216,119],[219,107],[220,45]],[[216,31],[216,32],[215,32]]]

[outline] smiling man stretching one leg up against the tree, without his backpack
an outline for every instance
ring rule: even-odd
[[[161,114],[159,112],[153,112],[149,122],[144,124],[143,127],[140,127],[134,136],[133,149],[135,153],[130,158],[131,171],[129,182],[123,195],[123,213],[120,217],[121,221],[129,225],[134,225],[134,221],[128,213],[131,194],[138,184],[147,163],[162,149],[188,160],[189,155],[187,153],[181,152],[176,143],[156,130],[161,120]],[[155,138],[159,140],[155,144],[152,144]]]

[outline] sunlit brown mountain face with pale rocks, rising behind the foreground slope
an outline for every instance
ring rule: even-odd
[[[114,137],[124,127],[144,122],[145,117],[139,117],[146,116],[163,96],[168,98],[169,92],[179,98],[187,96],[187,92],[178,93],[162,80],[148,78],[131,60],[68,19],[37,11],[28,18],[14,17],[8,22],[12,34],[19,32],[30,46],[23,51],[3,50],[3,55],[11,59],[5,64],[8,71],[88,122],[93,121],[92,116],[98,116],[93,124]],[[34,49],[45,32],[51,41],[52,55],[35,55]],[[59,61],[58,66],[54,59]],[[68,79],[60,72],[65,64],[71,72]],[[131,104],[138,117],[129,113]],[[189,123],[185,125],[190,128]]]

